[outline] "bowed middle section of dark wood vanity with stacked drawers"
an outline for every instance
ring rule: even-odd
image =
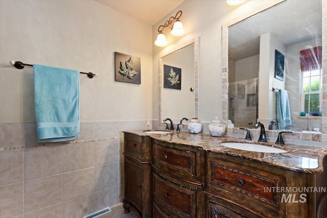
[[[153,217],[205,216],[203,150],[153,139]]]

